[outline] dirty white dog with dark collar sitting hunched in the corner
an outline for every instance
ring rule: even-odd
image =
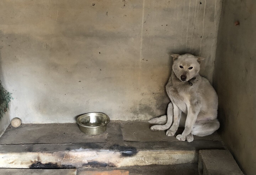
[[[149,120],[151,130],[167,130],[174,136],[178,127],[185,127],[176,138],[192,142],[193,135],[206,136],[218,130],[218,96],[206,78],[199,75],[201,57],[172,54],[174,63],[166,92],[171,99],[166,115]],[[185,125],[184,125],[185,121]]]

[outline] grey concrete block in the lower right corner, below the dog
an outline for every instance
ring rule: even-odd
[[[243,175],[228,150],[200,150],[198,160],[200,175]]]

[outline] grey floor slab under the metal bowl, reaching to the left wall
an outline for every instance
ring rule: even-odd
[[[81,132],[77,124],[22,124],[6,129],[0,144],[38,143],[101,143],[107,142],[107,132],[90,136]]]

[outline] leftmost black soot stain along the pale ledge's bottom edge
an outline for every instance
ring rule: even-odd
[[[76,168],[72,165],[58,165],[57,163],[42,163],[40,161],[37,161],[35,163],[32,163],[29,167],[30,169],[60,169],[60,168]]]

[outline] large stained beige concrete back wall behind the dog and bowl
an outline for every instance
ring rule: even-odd
[[[1,0],[1,66],[23,123],[165,113],[169,53],[207,57],[212,81],[222,0]]]

